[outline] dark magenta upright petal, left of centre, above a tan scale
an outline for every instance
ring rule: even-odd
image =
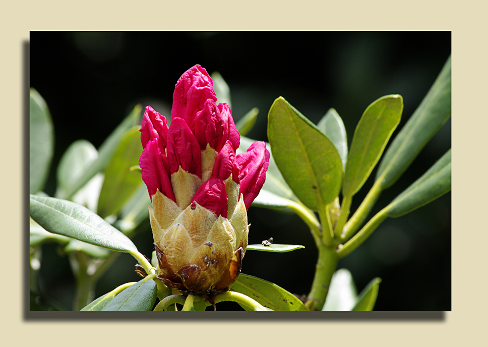
[[[179,166],[190,174],[202,177],[202,153],[195,135],[181,118],[174,118],[169,126],[166,152],[171,175]]]

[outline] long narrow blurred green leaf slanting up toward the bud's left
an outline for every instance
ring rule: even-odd
[[[141,105],[136,105],[126,119],[118,125],[117,128],[108,136],[98,149],[98,158],[85,170],[84,174],[76,180],[71,188],[60,197],[68,199],[73,196],[81,187],[83,187],[98,172],[103,171],[107,166],[112,154],[117,148],[121,138],[127,130],[134,127],[141,114]]]

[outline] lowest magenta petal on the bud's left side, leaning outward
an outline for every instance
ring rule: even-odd
[[[161,154],[157,139],[146,144],[146,148],[139,158],[139,166],[141,166],[142,180],[147,186],[149,196],[152,197],[159,189],[162,194],[176,202],[169,180],[167,159],[164,154]]]

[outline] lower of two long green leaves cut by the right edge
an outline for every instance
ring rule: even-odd
[[[387,207],[390,217],[399,217],[428,204],[451,190],[451,149]]]

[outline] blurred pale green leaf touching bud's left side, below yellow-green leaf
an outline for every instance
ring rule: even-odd
[[[147,187],[141,180],[137,191],[120,210],[120,219],[115,222],[116,227],[125,234],[131,232],[144,220],[149,220],[148,206],[150,205],[151,199]]]

